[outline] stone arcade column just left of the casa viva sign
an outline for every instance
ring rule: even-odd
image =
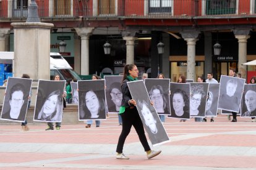
[[[187,79],[195,79],[195,42],[199,31],[183,31],[182,38],[187,41]]]

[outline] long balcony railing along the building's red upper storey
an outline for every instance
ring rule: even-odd
[[[250,4],[256,3],[250,1],[252,0],[36,0],[36,3],[40,18],[93,19],[255,15],[255,6]],[[27,18],[27,8],[17,7],[15,2],[17,0],[0,1],[0,19]]]

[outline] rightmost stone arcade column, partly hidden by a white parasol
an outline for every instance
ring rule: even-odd
[[[242,63],[247,62],[247,39],[249,35],[236,35],[238,39],[238,72],[241,73],[242,78],[247,78],[247,66]]]

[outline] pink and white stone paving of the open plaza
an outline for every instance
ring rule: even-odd
[[[256,169],[256,123],[237,121],[226,115],[214,123],[166,118],[171,142],[152,147],[162,153],[151,160],[133,128],[124,145],[130,160],[116,160],[116,114],[89,129],[83,122],[62,124],[60,131],[28,123],[30,131],[23,132],[20,124],[0,124],[0,169]]]

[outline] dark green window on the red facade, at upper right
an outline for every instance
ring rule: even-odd
[[[207,0],[207,15],[236,14],[236,0]]]

